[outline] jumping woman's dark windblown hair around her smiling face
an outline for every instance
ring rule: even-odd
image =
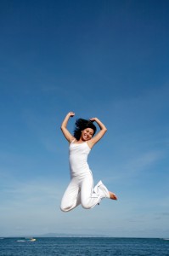
[[[81,137],[82,131],[86,128],[93,129],[93,135],[96,132],[96,126],[93,125],[93,122],[87,119],[76,119],[74,137],[78,141]]]

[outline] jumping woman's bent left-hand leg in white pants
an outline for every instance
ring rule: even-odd
[[[60,209],[63,212],[69,212],[73,208],[81,204],[81,189],[78,179],[73,177],[69,186],[65,190],[65,194],[62,198]]]

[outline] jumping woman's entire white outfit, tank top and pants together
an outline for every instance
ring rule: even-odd
[[[74,141],[73,141],[74,142]],[[93,188],[93,174],[87,164],[87,156],[91,148],[87,142],[70,143],[70,184],[61,201],[61,210],[68,212],[78,205],[86,209],[99,204],[102,198],[110,198],[108,189],[99,183]]]

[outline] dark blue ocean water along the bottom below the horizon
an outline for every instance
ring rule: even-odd
[[[0,256],[168,256],[169,240],[155,238],[55,237],[0,239]]]

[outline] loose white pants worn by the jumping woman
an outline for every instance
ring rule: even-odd
[[[60,209],[63,212],[69,212],[80,204],[85,209],[95,207],[102,198],[107,197],[102,189],[99,189],[100,183],[101,181],[93,188],[91,172],[72,177],[69,186],[65,190]]]

